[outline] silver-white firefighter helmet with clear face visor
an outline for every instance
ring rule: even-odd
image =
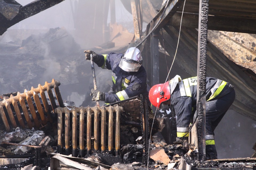
[[[136,47],[128,48],[121,58],[119,67],[124,71],[138,71],[142,65],[141,51]]]

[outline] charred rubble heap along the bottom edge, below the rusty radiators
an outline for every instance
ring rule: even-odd
[[[52,135],[52,134],[51,134]],[[150,143],[148,163],[143,163],[143,145],[122,145],[119,155],[109,151],[97,151],[83,158],[62,155],[57,152],[57,135],[33,129],[13,129],[1,132],[0,169],[20,170],[39,167],[43,169],[248,169],[256,167],[256,159],[197,160],[197,149],[186,141],[167,145],[163,141]],[[46,142],[46,137],[48,141]],[[37,147],[40,147],[38,150]],[[41,151],[41,152],[40,152]],[[40,153],[39,153],[40,152]],[[9,163],[3,165],[3,159]],[[250,161],[248,161],[250,160]]]

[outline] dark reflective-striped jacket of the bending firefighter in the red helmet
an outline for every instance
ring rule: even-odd
[[[231,84],[225,81],[207,77],[206,102],[228,94],[233,88]],[[189,130],[190,119],[197,109],[197,77],[178,82],[171,94],[171,109],[177,116],[177,136],[183,137]]]

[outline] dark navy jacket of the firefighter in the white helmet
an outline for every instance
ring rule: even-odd
[[[113,86],[111,91],[105,93],[105,103],[114,103],[134,96],[148,96],[147,74],[143,66],[137,72],[123,71],[118,65],[123,54],[109,53],[100,55],[95,63],[103,69],[112,71]]]

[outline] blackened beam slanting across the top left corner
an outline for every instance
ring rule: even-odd
[[[2,35],[7,28],[11,27],[12,25],[29,18],[30,16],[33,16],[41,11],[44,11],[54,5],[57,5],[58,3],[62,2],[64,0],[35,0],[25,6],[21,6],[19,8],[19,12],[17,15],[14,16],[14,18],[9,18],[11,20],[8,20],[7,18],[0,16],[0,19],[3,23],[0,25],[0,35]],[[1,1],[3,2],[3,1]]]

